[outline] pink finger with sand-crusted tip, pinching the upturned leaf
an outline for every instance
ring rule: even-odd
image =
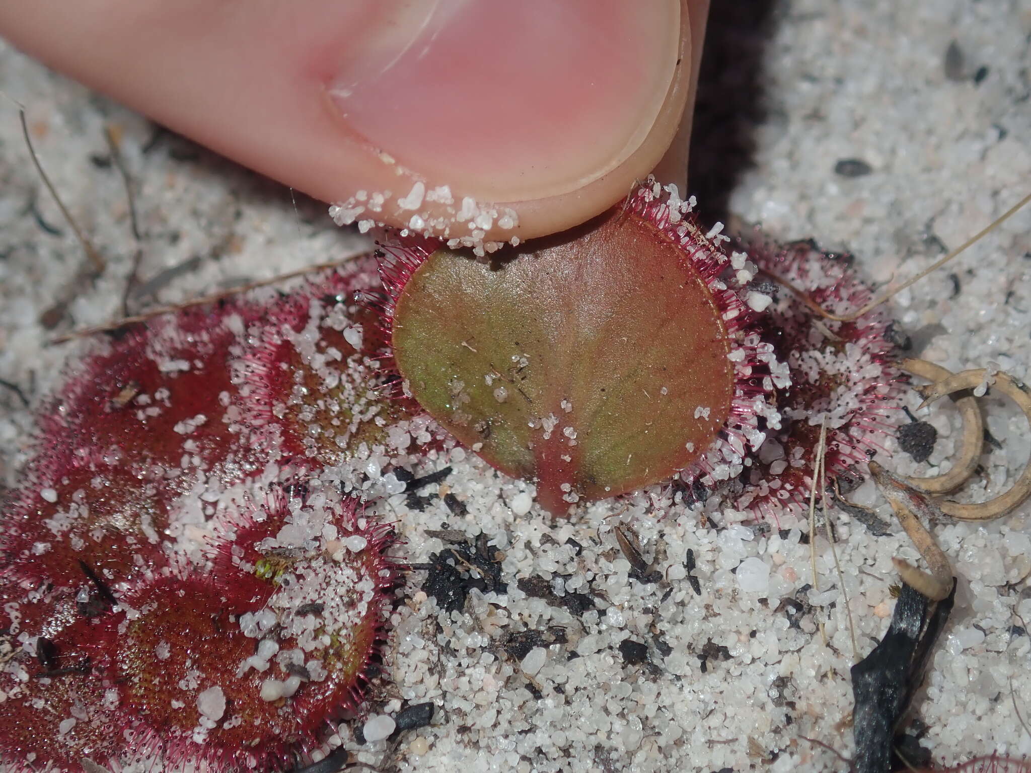
[[[683,183],[707,6],[0,0],[0,34],[317,198],[390,191],[376,219],[403,226],[399,199],[446,184],[514,213],[487,238],[525,239],[623,198],[674,138],[660,174]]]

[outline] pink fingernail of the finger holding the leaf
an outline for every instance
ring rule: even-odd
[[[619,166],[676,70],[677,2],[389,7],[330,97],[388,160],[484,201],[566,194]]]

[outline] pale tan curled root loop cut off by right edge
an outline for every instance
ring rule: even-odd
[[[923,391],[925,400],[920,407],[924,408],[945,395],[952,395],[963,390],[973,390],[985,383],[990,375],[994,379],[993,389],[998,390],[1017,403],[1018,407],[1023,411],[1024,416],[1028,419],[1028,424],[1031,425],[1031,394],[1028,393],[1028,388],[1012,376],[1001,372],[989,374],[984,368],[964,370],[962,373],[957,373],[935,382],[929,389]],[[964,432],[966,436],[969,436],[971,430],[969,427],[966,427]],[[980,437],[982,433],[978,432],[976,438],[979,440]],[[965,440],[964,442],[967,441]],[[946,500],[941,502],[939,506],[943,513],[959,520],[992,520],[1009,512],[1023,503],[1029,496],[1031,496],[1031,461],[1025,465],[1024,471],[1017,478],[1017,482],[1013,483],[1012,488],[1005,494],[1000,494],[995,499],[977,504],[962,504]]]

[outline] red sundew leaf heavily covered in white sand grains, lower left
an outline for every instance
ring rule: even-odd
[[[306,656],[325,677],[290,700],[306,737],[360,703],[366,677],[380,662],[387,592],[396,580],[384,553],[395,534],[387,525],[366,524],[362,510],[360,500],[337,501],[335,492],[276,492],[254,515],[227,527],[213,560],[220,584],[246,574],[275,589],[265,593],[263,608],[279,620],[281,649],[291,641],[306,646],[312,636],[329,638],[328,646],[308,647]],[[301,612],[313,617],[305,624]]]

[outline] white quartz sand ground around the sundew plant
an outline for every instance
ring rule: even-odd
[[[740,222],[773,239],[813,237],[846,248],[862,276],[883,283],[911,275],[1031,189],[1026,2],[785,1],[770,34],[756,166],[731,198]],[[946,68],[953,41],[962,61],[954,52]],[[332,260],[366,243],[357,230],[334,226],[326,207],[305,201],[295,211],[288,190],[179,138],[166,135],[144,152],[151,124],[8,47],[0,47],[0,89],[26,105],[55,186],[107,259],[95,285],[75,288],[69,314],[76,326],[123,313],[137,255],[140,283],[130,310]],[[122,177],[103,163],[105,121],[123,130],[140,241],[130,230]],[[20,133],[15,106],[0,99],[0,378],[29,403],[0,386],[6,485],[26,459],[31,410],[45,405],[62,364],[80,348],[47,345],[53,334],[37,323],[75,283],[82,250],[40,186]],[[835,172],[842,160],[861,160],[870,171],[843,176]],[[892,309],[921,356],[952,369],[994,362],[1028,379],[1029,278],[1031,210],[900,295]],[[1001,447],[982,459],[983,474],[966,495],[974,499],[1009,484],[1031,438],[1001,398],[986,405]],[[947,407],[932,414],[941,434],[932,462],[947,457],[954,418]],[[470,538],[486,533],[505,553],[509,591],[473,593],[464,613],[446,614],[418,591],[425,574],[413,573],[389,651],[395,698],[369,707],[365,735],[389,734],[399,699],[433,701],[442,710],[398,746],[359,746],[346,725],[335,743],[378,769],[423,773],[841,769],[803,740],[852,752],[853,648],[826,539],[817,544],[819,590],[799,594],[812,582],[800,532],[780,537],[776,525],[764,533],[721,512],[714,515],[725,528],[717,532],[656,486],[625,502],[621,516],[664,575],[641,584],[628,577],[612,531],[619,520],[607,519],[618,511],[611,502],[555,520],[532,503],[531,486],[501,478],[461,449],[419,472],[445,464],[455,470],[445,485],[468,514],[456,516],[439,500],[408,512],[404,497],[395,497],[404,553],[419,562],[440,550],[427,530],[444,524]],[[886,464],[913,468],[905,455]],[[869,485],[856,498],[878,501]],[[890,516],[883,502],[880,512]],[[834,518],[862,657],[891,616],[891,558],[916,552],[900,533],[874,538],[843,513]],[[928,728],[923,743],[943,764],[993,751],[1031,754],[1011,699],[1031,716],[1031,639],[1023,631],[1031,623],[1031,507],[984,527],[940,524],[934,533],[959,592],[918,699],[914,713]],[[567,544],[570,538],[581,549]],[[700,596],[684,568],[689,548]],[[599,594],[597,609],[576,615],[528,598],[517,583],[529,577],[543,578],[558,597],[590,586]],[[802,604],[786,608],[781,600],[796,595],[810,606],[792,626]],[[561,629],[565,643],[545,637],[520,658],[503,646],[518,632],[550,629]],[[620,644],[628,639],[645,645],[647,662],[625,658]],[[570,659],[573,651],[578,657]],[[210,698],[214,706],[218,696]]]

